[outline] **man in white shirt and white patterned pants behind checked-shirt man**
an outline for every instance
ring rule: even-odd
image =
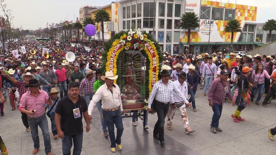
[[[188,85],[185,82],[185,80],[187,79],[186,73],[185,72],[180,72],[179,74],[176,74],[176,75],[178,76],[178,80],[174,81],[173,83],[184,94],[184,96],[186,97],[186,100],[187,100],[187,98],[188,98]],[[173,117],[175,115],[176,109],[178,109],[179,112],[180,112],[180,115],[182,117],[182,121],[183,121],[183,125],[184,125],[184,129],[185,129],[186,134],[195,132],[195,130],[192,130],[190,125],[189,125],[189,121],[188,121],[188,117],[187,117],[184,102],[177,95],[177,93],[175,93],[174,91],[171,93],[171,96],[173,96],[173,99],[174,99],[176,105],[174,105],[174,106],[170,105],[169,112],[167,114],[167,117],[168,117],[167,128],[169,130],[173,130],[173,128],[172,128],[172,126],[173,126]],[[189,106],[189,107],[192,107],[190,103],[187,103],[186,105]]]

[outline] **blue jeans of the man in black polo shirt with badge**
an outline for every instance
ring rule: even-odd
[[[71,154],[71,148],[73,145],[72,139],[74,143],[73,155],[80,155],[81,148],[82,148],[82,138],[83,138],[83,132],[73,134],[73,135],[64,135],[63,140],[61,140],[63,155]]]

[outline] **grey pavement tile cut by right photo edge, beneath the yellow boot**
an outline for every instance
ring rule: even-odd
[[[264,128],[261,130],[257,130],[255,132],[246,134],[244,136],[240,136],[237,139],[247,142],[251,144],[252,146],[262,148],[263,150],[269,151],[271,153],[276,152],[276,142],[271,141],[268,137],[268,129],[270,128]],[[276,137],[275,137],[276,138]]]

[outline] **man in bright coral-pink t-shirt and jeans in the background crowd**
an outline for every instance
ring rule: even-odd
[[[59,63],[58,69],[56,70],[56,75],[57,75],[57,84],[59,85],[59,90],[60,90],[60,98],[63,98],[63,91],[64,91],[64,96],[68,94],[67,92],[67,82],[66,78],[69,79],[68,74],[66,74],[65,68],[62,68],[62,64]]]

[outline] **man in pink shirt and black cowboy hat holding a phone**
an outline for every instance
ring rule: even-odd
[[[32,131],[31,133],[35,148],[33,154],[37,154],[40,147],[38,136],[39,126],[43,134],[45,153],[47,155],[53,155],[51,153],[48,121],[45,114],[45,102],[47,105],[52,105],[53,102],[46,91],[39,89],[42,83],[43,81],[38,82],[37,79],[31,79],[29,81],[29,85],[26,85],[25,87],[30,87],[30,90],[22,95],[18,110],[22,113],[26,113],[28,116],[28,124]]]

